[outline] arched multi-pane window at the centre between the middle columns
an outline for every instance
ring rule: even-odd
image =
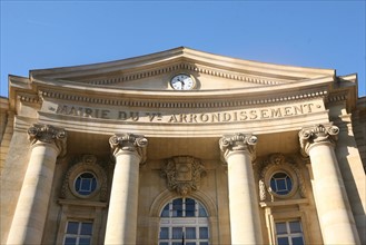
[[[169,202],[160,213],[159,245],[208,245],[206,208],[192,198]]]

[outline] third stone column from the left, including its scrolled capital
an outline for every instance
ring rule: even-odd
[[[228,166],[231,244],[261,244],[251,160],[257,137],[237,134],[219,140]]]

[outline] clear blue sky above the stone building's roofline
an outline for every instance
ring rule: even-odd
[[[8,75],[119,60],[186,46],[247,60],[358,74],[366,95],[365,1],[1,0]]]

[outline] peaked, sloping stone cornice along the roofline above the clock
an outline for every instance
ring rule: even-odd
[[[86,85],[118,85],[182,70],[257,86],[335,75],[332,69],[264,63],[180,47],[119,61],[32,70],[30,78],[68,80]]]

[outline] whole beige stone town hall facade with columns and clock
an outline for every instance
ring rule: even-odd
[[[365,244],[365,102],[185,47],[9,76],[1,244]]]

